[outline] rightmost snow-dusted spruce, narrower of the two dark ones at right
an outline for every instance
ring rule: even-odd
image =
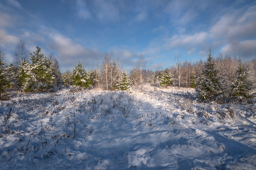
[[[249,91],[252,90],[252,81],[248,80],[247,68],[243,65],[241,58],[238,59],[238,67],[236,68],[237,77],[231,85],[231,97],[238,101],[251,98]]]

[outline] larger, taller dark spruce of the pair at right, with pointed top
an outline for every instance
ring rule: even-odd
[[[213,59],[214,53],[210,50],[204,68],[201,69],[201,74],[197,77],[195,88],[197,97],[200,100],[214,100],[221,98],[224,95],[223,77],[219,77],[219,69],[215,69],[216,63]]]

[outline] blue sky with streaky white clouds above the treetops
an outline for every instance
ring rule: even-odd
[[[181,61],[214,55],[256,55],[256,1],[246,0],[1,0],[0,48],[10,64],[23,40],[53,53],[66,72],[80,61],[86,69],[113,53],[127,72],[138,65],[162,70]]]

